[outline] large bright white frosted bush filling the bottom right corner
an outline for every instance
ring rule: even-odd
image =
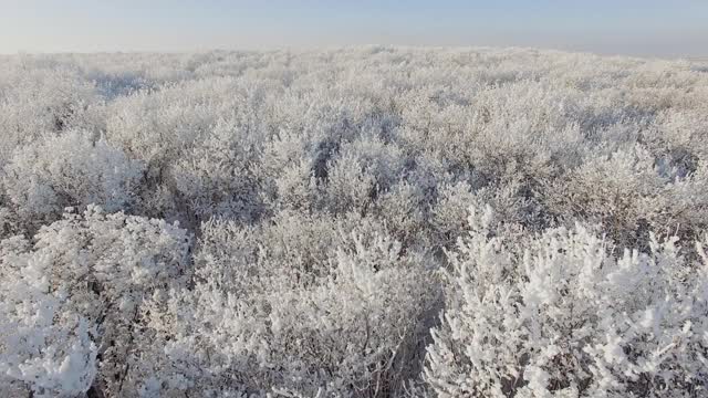
[[[472,212],[450,253],[426,379],[440,397],[699,397],[708,258],[675,238],[617,258],[582,226],[524,240]]]

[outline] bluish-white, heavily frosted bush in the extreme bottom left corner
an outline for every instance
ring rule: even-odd
[[[2,241],[0,387],[76,396],[96,375],[95,325],[71,308],[65,289],[54,286],[51,259],[28,255],[28,247],[22,238]]]

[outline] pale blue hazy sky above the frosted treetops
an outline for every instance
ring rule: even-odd
[[[708,56],[708,0],[0,0],[0,53],[531,46]]]

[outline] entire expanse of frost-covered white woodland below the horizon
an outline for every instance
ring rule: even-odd
[[[708,62],[0,56],[2,397],[708,397]]]

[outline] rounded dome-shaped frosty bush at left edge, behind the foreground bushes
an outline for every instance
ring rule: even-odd
[[[15,149],[4,168],[2,187],[28,223],[51,222],[65,207],[131,210],[143,170],[140,161],[104,139],[67,132]]]

